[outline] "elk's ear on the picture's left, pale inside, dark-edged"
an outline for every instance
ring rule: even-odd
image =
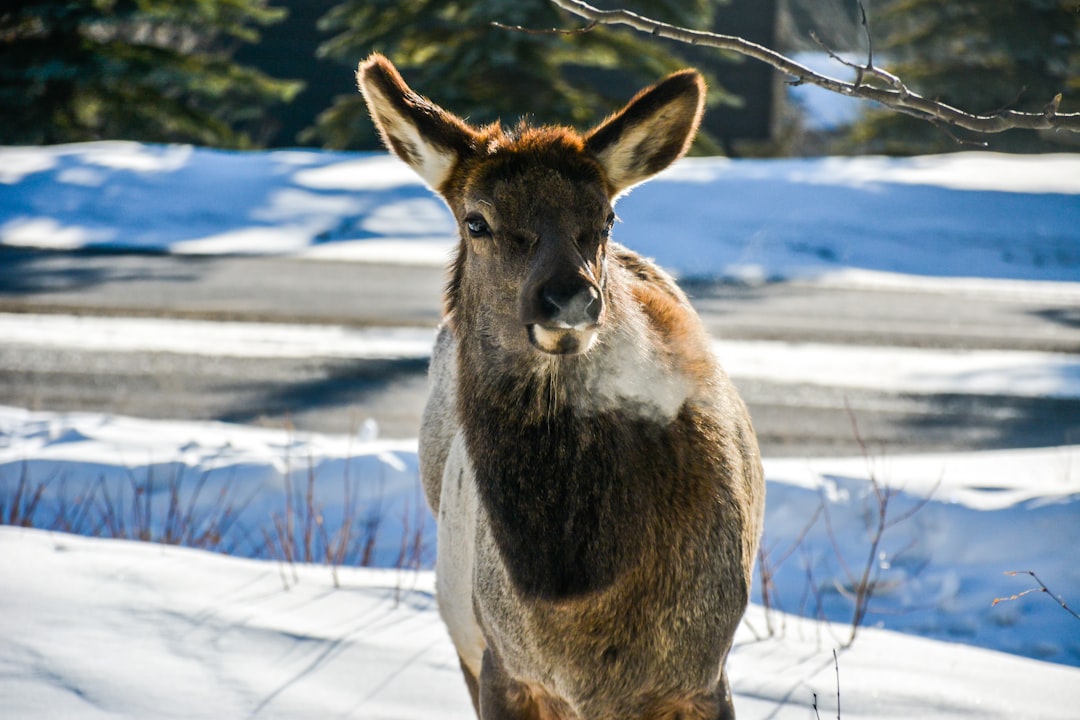
[[[475,145],[464,121],[413,92],[397,68],[373,54],[356,69],[356,83],[387,148],[435,190]]]

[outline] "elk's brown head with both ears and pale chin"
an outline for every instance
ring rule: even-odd
[[[701,119],[701,77],[672,74],[583,135],[473,127],[413,92],[381,55],[356,77],[387,147],[457,219],[450,322],[504,350],[586,352],[610,314],[612,205],[686,152]]]

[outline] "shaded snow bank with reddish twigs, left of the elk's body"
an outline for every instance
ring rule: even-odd
[[[416,440],[0,407],[0,510],[256,558],[430,565]],[[37,500],[35,500],[37,498]]]

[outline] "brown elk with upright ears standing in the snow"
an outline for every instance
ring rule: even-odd
[[[686,152],[703,80],[676,72],[584,134],[472,126],[377,54],[357,82],[460,233],[420,474],[477,716],[733,718],[757,439],[686,295],[610,239],[616,200]]]

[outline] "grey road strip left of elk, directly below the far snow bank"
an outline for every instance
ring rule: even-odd
[[[0,247],[0,312],[434,326],[442,287],[438,268]]]

